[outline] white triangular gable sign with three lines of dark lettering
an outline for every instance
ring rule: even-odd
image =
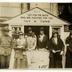
[[[9,23],[10,25],[69,25],[69,23],[38,7],[24,12],[23,14],[18,15],[5,23]]]

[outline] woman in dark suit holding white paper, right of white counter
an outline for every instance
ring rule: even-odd
[[[62,68],[62,54],[64,50],[64,43],[57,32],[53,33],[49,40],[50,50],[50,68]]]

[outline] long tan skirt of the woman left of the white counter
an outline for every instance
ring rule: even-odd
[[[15,51],[14,68],[15,69],[26,69],[27,68],[27,56],[23,55],[22,50]]]

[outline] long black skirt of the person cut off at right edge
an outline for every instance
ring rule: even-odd
[[[72,52],[67,49],[67,53],[66,53],[66,68],[72,68]]]

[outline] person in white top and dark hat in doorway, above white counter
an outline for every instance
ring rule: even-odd
[[[27,35],[27,49],[28,50],[33,50],[36,47],[36,35],[32,31],[32,28],[28,28],[28,35]]]

